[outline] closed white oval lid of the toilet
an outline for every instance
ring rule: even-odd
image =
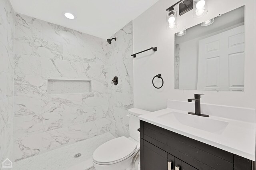
[[[114,164],[130,157],[136,149],[136,143],[122,136],[100,145],[93,152],[92,158],[97,164]]]

